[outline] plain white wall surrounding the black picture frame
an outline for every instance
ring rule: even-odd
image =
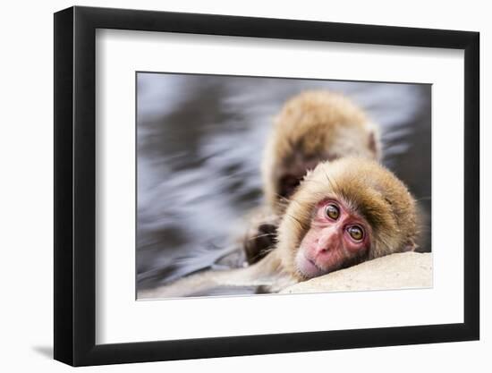
[[[98,367],[84,371],[268,371],[306,369],[377,372],[490,371],[492,350],[492,271],[486,263],[492,254],[484,231],[492,224],[492,188],[486,170],[492,157],[492,120],[485,107],[492,75],[492,24],[487,2],[266,2],[220,0],[84,1],[79,5],[141,8],[175,12],[224,13],[261,17],[386,24],[423,28],[478,30],[481,33],[481,341],[399,346],[336,352],[291,353],[212,360],[189,360],[125,366]],[[3,182],[0,206],[3,266],[0,338],[3,371],[61,372],[69,368],[52,360],[53,278],[53,13],[71,6],[63,0],[8,2],[2,7],[2,145]],[[332,7],[333,5],[333,7]],[[5,132],[6,130],[6,132]],[[6,240],[5,240],[6,237]],[[421,305],[425,307],[425,304]]]

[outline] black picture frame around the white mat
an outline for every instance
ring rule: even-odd
[[[464,322],[96,344],[97,29],[464,50]],[[55,360],[73,366],[479,339],[479,33],[71,7],[55,13]]]

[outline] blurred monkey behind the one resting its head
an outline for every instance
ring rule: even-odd
[[[340,157],[379,160],[377,126],[347,97],[306,91],[288,100],[277,115],[261,165],[265,205],[250,216],[243,247],[249,263],[266,255],[286,201],[320,161]]]

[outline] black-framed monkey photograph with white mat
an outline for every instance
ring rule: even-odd
[[[478,33],[55,13],[56,360],[476,339]]]

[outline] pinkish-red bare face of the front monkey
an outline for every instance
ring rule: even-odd
[[[370,226],[358,214],[335,199],[318,204],[310,230],[295,257],[304,278],[326,275],[352,265],[370,246]]]

